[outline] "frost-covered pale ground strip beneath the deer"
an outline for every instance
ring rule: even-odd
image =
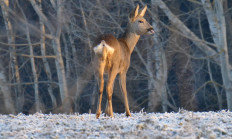
[[[0,115],[0,138],[232,138],[232,112]]]

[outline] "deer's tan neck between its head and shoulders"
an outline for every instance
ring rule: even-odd
[[[130,49],[130,53],[133,52],[137,42],[139,41],[140,35],[137,35],[135,32],[130,31],[130,28],[124,33],[123,39],[125,40],[127,46]]]

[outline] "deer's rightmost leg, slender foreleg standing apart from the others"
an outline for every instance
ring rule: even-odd
[[[120,84],[124,96],[124,105],[126,109],[126,116],[131,116],[129,105],[128,105],[128,99],[127,99],[127,90],[126,90],[126,72],[120,73]]]

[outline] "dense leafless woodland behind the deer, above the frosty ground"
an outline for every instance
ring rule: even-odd
[[[94,113],[92,42],[148,5],[127,74],[130,110],[232,110],[231,0],[0,0],[0,113]],[[106,95],[103,96],[103,104]],[[104,107],[103,107],[104,108]],[[114,112],[124,112],[116,79]]]

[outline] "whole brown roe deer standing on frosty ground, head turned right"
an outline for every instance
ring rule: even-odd
[[[117,74],[120,75],[120,85],[124,95],[126,116],[131,116],[126,90],[126,73],[130,66],[131,53],[134,50],[141,35],[154,34],[152,26],[143,18],[147,6],[139,11],[139,5],[129,16],[129,23],[122,38],[115,38],[113,35],[102,35],[94,42],[94,53],[97,60],[99,74],[99,99],[96,118],[101,114],[102,93],[104,88],[103,74],[108,74],[107,106],[105,113],[113,117],[112,95],[113,85]]]

